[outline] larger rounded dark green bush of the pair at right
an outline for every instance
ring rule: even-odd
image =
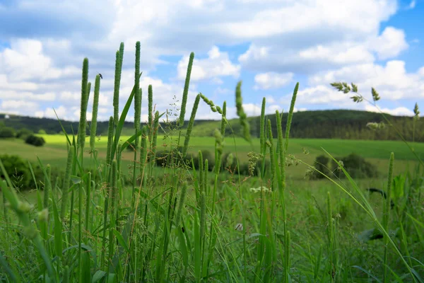
[[[377,167],[368,161],[365,161],[365,158],[359,156],[358,154],[349,154],[343,158],[336,158],[337,161],[343,162],[343,168],[348,171],[349,175],[352,178],[375,178],[378,177]],[[336,162],[332,161],[331,169],[336,172],[338,166]],[[346,178],[346,175],[341,172],[339,174],[340,178]]]

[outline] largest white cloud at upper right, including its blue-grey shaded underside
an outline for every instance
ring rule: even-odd
[[[256,37],[239,57],[243,68],[311,74],[374,62],[375,53],[387,59],[406,50],[403,30],[388,27],[379,35],[379,24],[396,9],[396,1],[290,1],[259,10],[228,30]]]

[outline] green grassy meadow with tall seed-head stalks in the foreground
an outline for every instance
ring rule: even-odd
[[[84,59],[76,136],[44,135],[40,148],[0,141],[0,154],[39,163],[45,177],[34,180],[34,190],[18,192],[0,162],[1,282],[423,282],[424,144],[290,139],[299,84],[284,133],[276,111],[276,137],[265,119],[265,99],[260,138],[250,137],[241,82],[235,88],[241,137],[225,136],[231,131],[226,103],[215,105],[201,93],[182,130],[193,53],[177,127],[162,137],[161,113],[152,111],[154,86],[147,92],[148,125],[140,127],[139,42],[134,88],[121,94],[129,98],[118,112],[123,52],[122,44],[108,137],[96,135],[100,77],[89,96]],[[362,97],[353,83],[334,87]],[[87,123],[89,97],[93,121]],[[377,92],[372,99],[379,100]],[[191,137],[199,103],[222,116],[215,137]],[[130,107],[134,135],[124,137]],[[131,143],[134,151],[126,148]],[[205,150],[211,160],[204,159]],[[162,151],[165,167],[155,163]],[[226,153],[232,155],[223,158]],[[338,161],[351,153],[377,166],[379,177],[351,178]],[[336,171],[310,180],[322,154],[334,158]],[[259,173],[240,174],[242,162]],[[60,182],[50,177],[52,168],[63,169]],[[368,193],[370,187],[377,193]]]

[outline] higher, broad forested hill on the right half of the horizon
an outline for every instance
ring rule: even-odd
[[[288,113],[283,113],[282,123],[285,131]],[[389,121],[401,132],[406,140],[413,140],[412,117],[386,115]],[[276,115],[266,115],[271,120],[273,137],[277,136]],[[249,117],[252,137],[259,137],[259,117]],[[299,139],[369,139],[369,140],[399,140],[395,129],[386,124],[384,129],[373,131],[367,127],[368,122],[384,122],[384,117],[376,112],[358,110],[314,110],[295,112],[290,127],[290,137]],[[220,127],[220,122],[204,122],[193,127],[194,136],[211,136],[213,129]],[[232,131],[241,132],[240,122],[230,120]],[[226,134],[232,134],[228,129]],[[424,141],[424,121],[416,121],[415,141]]]

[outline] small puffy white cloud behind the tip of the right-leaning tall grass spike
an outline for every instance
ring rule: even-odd
[[[184,56],[177,67],[178,79],[184,80],[187,74],[189,56]],[[232,64],[227,52],[220,52],[218,47],[213,46],[208,52],[206,59],[194,59],[190,81],[205,79],[217,79],[219,76],[240,76],[240,65]],[[220,83],[221,81],[218,81]]]

